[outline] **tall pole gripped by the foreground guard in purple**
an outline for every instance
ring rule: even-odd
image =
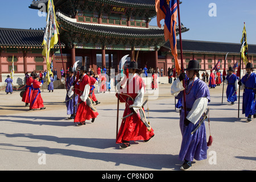
[[[184,73],[182,39],[181,39],[181,23],[180,23],[180,1],[179,0],[177,0],[177,13],[178,13],[178,19],[179,19],[181,72]],[[185,81],[184,80],[183,80],[183,87],[185,88]],[[187,106],[186,106],[185,90],[183,91],[183,98],[184,98],[184,113],[185,113],[185,117],[187,117]]]

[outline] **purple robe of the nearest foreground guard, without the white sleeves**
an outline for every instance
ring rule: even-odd
[[[186,81],[185,85],[188,85],[188,81]],[[205,84],[205,82],[200,80],[199,78],[196,78],[193,84],[189,84],[185,87],[187,87],[185,89],[185,99],[188,116],[189,111],[192,111],[191,109],[196,100],[198,101],[200,98],[206,98],[207,101],[210,102],[210,92],[207,84]],[[182,105],[184,108],[183,92],[180,92],[176,98],[182,98]],[[207,159],[208,146],[205,123],[203,122],[199,129],[197,129],[194,134],[191,134],[191,132],[199,125],[199,122],[197,121],[195,124],[189,122],[189,124],[185,126],[184,119],[185,113],[184,109],[182,109],[180,114],[180,130],[182,135],[182,142],[179,159],[181,161],[183,161],[184,159],[188,161],[193,161],[193,159]]]

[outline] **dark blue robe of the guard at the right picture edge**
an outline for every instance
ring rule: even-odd
[[[256,74],[246,74],[241,79],[243,91],[242,114],[245,117],[255,113],[255,89],[256,89]]]

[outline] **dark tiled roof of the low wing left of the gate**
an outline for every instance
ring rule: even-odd
[[[43,48],[43,30],[0,28],[0,47]],[[59,45],[56,44],[56,47]],[[61,47],[65,47],[61,44]]]

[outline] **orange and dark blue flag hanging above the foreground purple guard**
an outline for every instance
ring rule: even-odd
[[[158,27],[161,27],[160,20],[164,19],[164,38],[169,39],[172,55],[175,59],[177,75],[180,75],[180,64],[177,60],[177,0],[155,0],[156,19]]]

